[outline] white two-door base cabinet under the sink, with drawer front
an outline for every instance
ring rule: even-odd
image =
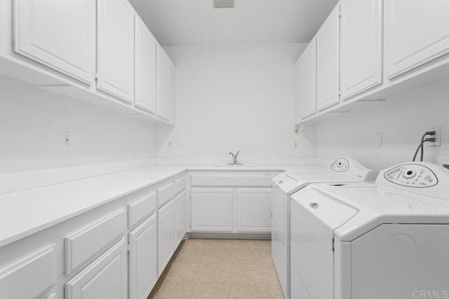
[[[190,172],[190,231],[271,232],[272,178],[281,172]]]

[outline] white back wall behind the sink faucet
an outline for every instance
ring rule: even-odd
[[[294,63],[305,46],[167,47],[177,66],[177,125],[158,130],[159,162],[227,163],[229,151],[246,163],[311,158],[311,140],[293,127]]]

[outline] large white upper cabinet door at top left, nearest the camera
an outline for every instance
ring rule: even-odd
[[[95,0],[17,0],[15,52],[93,83]]]

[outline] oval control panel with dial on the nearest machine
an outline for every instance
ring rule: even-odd
[[[428,167],[419,164],[399,165],[384,173],[384,178],[401,186],[426,188],[435,186],[438,178]]]

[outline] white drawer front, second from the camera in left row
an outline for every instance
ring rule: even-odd
[[[122,208],[65,237],[65,274],[100,253],[125,230],[126,209]]]

